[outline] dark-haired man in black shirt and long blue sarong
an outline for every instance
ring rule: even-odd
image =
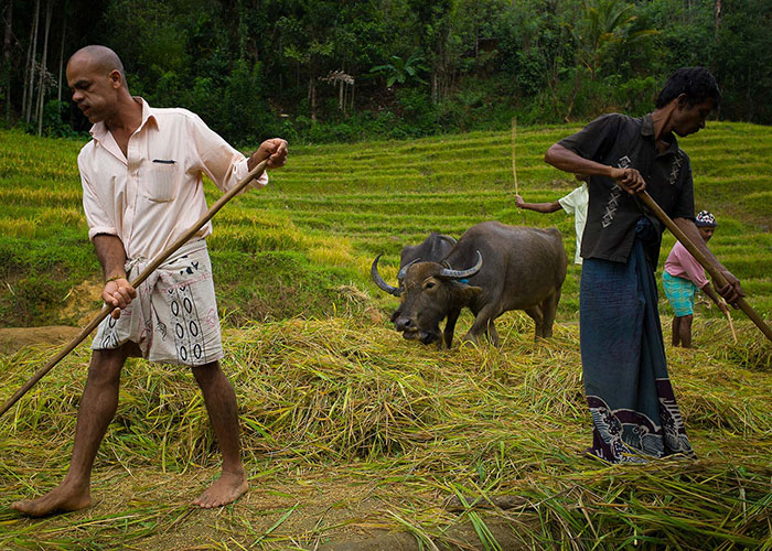
[[[585,390],[593,421],[588,453],[612,463],[673,453],[694,456],[667,376],[654,269],[663,227],[635,194],[646,190],[715,262],[732,303],[740,282],[705,247],[694,224],[689,158],[674,134],[705,128],[718,106],[714,76],[680,68],[654,112],[641,119],[604,115],[554,144],[545,160],[590,176],[581,246],[580,343]]]

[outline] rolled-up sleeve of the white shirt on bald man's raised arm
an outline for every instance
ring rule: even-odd
[[[210,129],[197,115],[191,114],[189,125],[201,170],[222,192],[228,192],[249,173],[248,159]],[[247,187],[267,184],[268,174],[264,172]]]

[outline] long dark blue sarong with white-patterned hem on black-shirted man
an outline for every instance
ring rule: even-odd
[[[667,376],[654,271],[642,218],[626,262],[585,259],[579,295],[581,363],[592,447],[611,463],[695,457]]]

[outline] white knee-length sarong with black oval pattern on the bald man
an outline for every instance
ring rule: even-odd
[[[126,263],[128,279],[150,261]],[[95,350],[133,342],[151,361],[200,366],[223,357],[219,320],[206,241],[191,241],[137,289],[118,320],[106,317],[92,343]]]

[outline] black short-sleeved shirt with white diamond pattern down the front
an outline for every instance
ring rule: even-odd
[[[694,219],[694,186],[689,158],[672,133],[664,138],[669,147],[660,152],[654,141],[652,115],[633,119],[625,115],[603,115],[579,132],[558,143],[579,156],[620,169],[637,169],[646,181],[646,191],[671,218]],[[587,226],[581,244],[582,258],[626,262],[641,217],[652,220],[657,230],[647,249],[653,266],[664,226],[647,208],[613,180],[591,176]]]

